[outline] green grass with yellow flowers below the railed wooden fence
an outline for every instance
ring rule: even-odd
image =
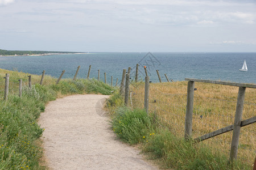
[[[185,141],[167,129],[159,129],[148,141],[143,152],[150,152],[152,158],[160,159],[162,168],[175,169],[250,169],[249,165],[235,162],[220,152],[213,152],[203,143]]]

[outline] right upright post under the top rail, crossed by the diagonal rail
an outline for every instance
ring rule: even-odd
[[[236,116],[234,120],[234,129],[232,135],[232,142],[230,148],[230,161],[233,163],[234,159],[237,159],[237,151],[239,144],[239,135],[241,129],[242,113],[243,113],[243,100],[245,99],[245,87],[239,87],[237,96]]]

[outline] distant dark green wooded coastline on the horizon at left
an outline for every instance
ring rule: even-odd
[[[72,54],[78,52],[49,52],[49,51],[23,51],[23,50],[2,50],[0,49],[0,56],[26,56],[33,54],[49,54],[49,53],[57,53],[57,54]]]

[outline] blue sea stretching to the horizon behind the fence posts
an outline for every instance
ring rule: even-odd
[[[244,59],[248,71],[239,71]],[[92,65],[90,78],[97,78],[100,69],[101,80],[106,73],[108,82],[111,76],[114,82],[116,78],[120,80],[122,70],[128,67],[133,68],[131,76],[134,78],[137,63],[140,63],[139,79],[144,78],[143,66],[146,65],[152,82],[158,82],[156,70],[159,70],[163,82],[166,82],[164,74],[167,74],[174,81],[197,78],[256,83],[256,53],[91,53],[0,57],[1,69],[38,75],[46,70],[46,74],[56,78],[62,70],[65,70],[63,78],[73,78],[79,65],[77,78],[86,78],[89,65]]]

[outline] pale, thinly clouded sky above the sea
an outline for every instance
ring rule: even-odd
[[[0,49],[256,52],[256,1],[0,0]]]

